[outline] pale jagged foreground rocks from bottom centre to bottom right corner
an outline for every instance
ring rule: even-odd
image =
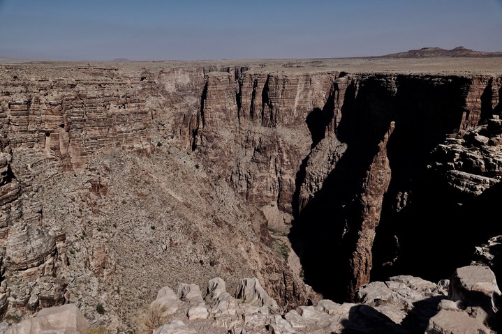
[[[246,278],[242,283],[249,281],[259,284],[256,278]],[[180,286],[188,287],[189,284]],[[480,289],[484,292],[476,294]],[[225,291],[224,281],[215,278],[209,281],[205,298],[210,310],[208,319],[198,322],[187,319],[186,314],[173,314],[174,318],[154,333],[177,333],[174,332],[177,330],[179,333],[491,334],[494,331],[487,324],[493,312],[489,317],[480,317],[481,312],[476,309],[485,306],[483,303],[491,291],[499,293],[492,271],[483,266],[466,266],[457,269],[451,283],[443,280],[435,284],[400,275],[386,282],[362,285],[357,291],[358,303],[321,300],[315,306],[303,305],[282,311],[256,304],[257,298],[243,298],[242,291],[237,291],[235,297],[230,296]],[[461,303],[457,303],[459,298],[462,298]],[[498,310],[492,301],[490,310]],[[179,303],[190,307],[191,302]]]

